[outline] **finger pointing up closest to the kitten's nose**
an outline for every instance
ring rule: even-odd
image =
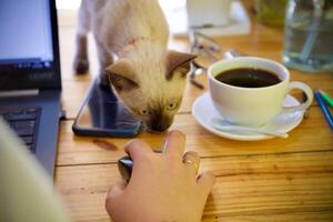
[[[163,153],[181,158],[185,148],[185,135],[180,131],[171,131],[165,138]]]

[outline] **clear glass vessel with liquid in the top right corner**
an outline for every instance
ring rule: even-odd
[[[283,62],[302,71],[333,71],[333,0],[290,0]]]

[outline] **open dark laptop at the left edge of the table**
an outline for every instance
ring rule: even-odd
[[[53,176],[61,113],[54,0],[0,0],[0,115]]]

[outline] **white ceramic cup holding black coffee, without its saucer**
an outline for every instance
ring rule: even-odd
[[[215,77],[228,70],[250,68],[274,73],[281,82],[262,88],[244,88],[218,81]],[[272,60],[241,57],[213,63],[208,71],[209,89],[214,107],[223,119],[242,125],[259,127],[269,123],[281,112],[297,112],[307,109],[313,100],[311,88],[302,82],[290,82],[287,69]],[[307,100],[297,107],[283,107],[287,93],[299,89]]]

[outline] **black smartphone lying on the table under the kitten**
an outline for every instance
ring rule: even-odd
[[[72,125],[78,135],[135,137],[141,131],[141,121],[124,107],[111,88],[95,79]]]

